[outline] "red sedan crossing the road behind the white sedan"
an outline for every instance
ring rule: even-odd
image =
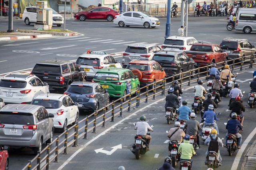
[[[96,7],[88,11],[81,11],[74,14],[75,20],[108,20],[113,21],[116,15],[120,15],[120,11],[113,10],[108,7]]]

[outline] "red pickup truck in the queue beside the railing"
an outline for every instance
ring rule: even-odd
[[[185,53],[196,62],[197,67],[228,60],[228,53],[217,44],[195,43]]]

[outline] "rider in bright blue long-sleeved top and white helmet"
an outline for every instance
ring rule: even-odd
[[[214,107],[212,104],[208,106],[208,111],[204,112],[203,119],[205,118],[204,125],[205,126],[213,126],[214,129],[217,130],[217,134],[219,134],[219,129],[217,123],[214,120],[218,120],[216,117],[216,113],[213,111]]]

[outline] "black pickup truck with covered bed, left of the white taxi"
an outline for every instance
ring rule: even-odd
[[[49,90],[66,90],[72,82],[87,81],[86,72],[80,71],[74,61],[48,60],[36,63],[31,74],[49,85]]]

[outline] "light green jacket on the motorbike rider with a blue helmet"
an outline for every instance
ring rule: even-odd
[[[180,144],[178,152],[181,152],[180,158],[182,159],[192,159],[193,154],[196,154],[193,145],[186,140]]]

